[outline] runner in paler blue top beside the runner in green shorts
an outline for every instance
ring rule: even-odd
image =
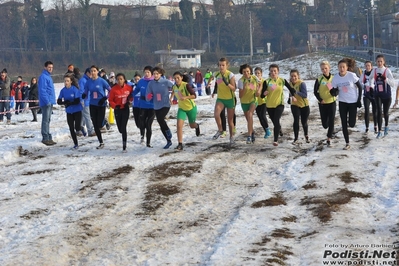
[[[163,148],[168,149],[170,146],[172,146],[172,132],[165,121],[165,117],[170,110],[169,95],[172,90],[173,83],[166,78],[162,78],[164,74],[165,71],[162,68],[153,68],[152,75],[154,76],[154,80],[151,80],[148,83],[146,98],[147,101],[153,100],[154,102],[155,116],[161,128],[162,134],[167,141],[165,147]]]

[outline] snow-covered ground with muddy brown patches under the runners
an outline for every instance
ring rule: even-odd
[[[13,115],[0,125],[0,265],[397,265],[398,109],[383,139],[364,133],[360,109],[348,151],[337,112],[327,148],[312,93],[324,59],[336,73],[338,56],[276,62],[283,77],[298,68],[308,79],[311,143],[301,131],[299,146],[291,144],[288,105],[278,147],[263,138],[256,116],[256,142],[245,143],[239,105],[236,145],[212,140],[209,96],[197,100],[202,134],[186,126],[181,152],[162,149],[156,121],[147,148],[130,119],[122,153],[116,125],[103,150],[96,137],[80,137],[75,151],[63,108],[52,116],[53,147],[40,142],[30,113]],[[261,65],[265,75],[269,64]]]

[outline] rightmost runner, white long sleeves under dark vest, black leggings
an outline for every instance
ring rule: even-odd
[[[391,88],[395,88],[395,79],[392,76],[392,72],[385,66],[385,58],[383,55],[377,55],[376,57],[377,68],[374,68],[371,73],[370,85],[374,87],[374,97],[376,104],[376,114],[378,123],[377,138],[382,136],[382,114],[384,114],[385,128],[384,137],[388,135],[388,123],[389,123],[389,108],[392,102]]]

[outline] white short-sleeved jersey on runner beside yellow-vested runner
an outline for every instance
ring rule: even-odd
[[[339,74],[334,75],[332,79],[332,86],[338,88],[338,100],[344,103],[356,103],[359,97],[359,89],[356,86],[359,78],[353,72],[346,72],[346,75],[341,77]]]

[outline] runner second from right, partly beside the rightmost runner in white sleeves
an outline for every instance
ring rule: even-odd
[[[371,72],[373,71],[373,64],[371,61],[364,63],[365,70],[360,76],[360,84],[363,87],[363,105],[364,105],[364,123],[366,126],[366,133],[369,131],[370,123],[370,103],[373,113],[374,133],[377,134],[377,110],[375,108],[374,90],[370,86]]]

